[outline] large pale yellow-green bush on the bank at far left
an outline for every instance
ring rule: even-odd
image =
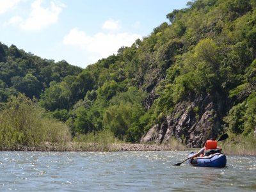
[[[0,145],[36,146],[42,142],[63,143],[71,140],[67,125],[44,118],[44,109],[25,95],[10,97],[0,112]]]

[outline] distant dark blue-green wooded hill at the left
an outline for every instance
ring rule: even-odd
[[[60,82],[67,76],[76,76],[82,71],[67,61],[55,63],[31,53],[10,47],[0,42],[0,102],[6,102],[10,95],[18,92],[27,97],[39,98],[49,84]]]

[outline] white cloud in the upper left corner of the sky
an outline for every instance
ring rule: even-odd
[[[10,24],[19,24],[21,29],[33,31],[56,23],[65,5],[52,0],[51,8],[44,8],[42,7],[43,2],[44,0],[35,0],[31,4],[31,13],[27,19],[24,20],[22,17],[15,16],[10,19]]]

